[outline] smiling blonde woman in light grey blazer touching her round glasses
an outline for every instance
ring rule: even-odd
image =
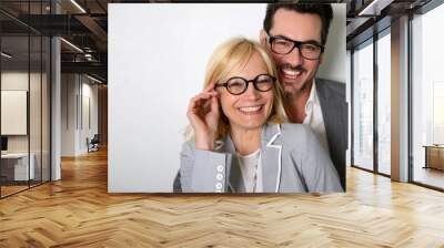
[[[235,38],[213,52],[204,90],[190,100],[186,115],[175,192],[343,190],[310,128],[283,124],[275,65],[254,41]]]

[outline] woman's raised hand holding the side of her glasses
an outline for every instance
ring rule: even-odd
[[[186,116],[195,134],[195,148],[214,149],[218,135],[219,93],[214,90],[215,83],[208,85],[201,93],[190,100]]]

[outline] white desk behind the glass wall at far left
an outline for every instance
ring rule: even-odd
[[[1,154],[1,173],[10,180],[28,180],[28,175],[30,176],[29,179],[34,179],[36,155],[31,153],[29,157],[31,163],[28,170],[28,153]]]

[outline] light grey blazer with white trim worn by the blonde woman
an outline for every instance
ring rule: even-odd
[[[213,193],[218,184],[223,193],[245,192],[229,136],[216,152],[195,149],[194,142],[185,142],[180,156],[175,192],[180,186],[183,193]],[[343,192],[332,162],[305,125],[265,124],[261,162],[264,193]]]

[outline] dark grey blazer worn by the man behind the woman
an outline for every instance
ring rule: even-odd
[[[345,101],[345,84],[316,79],[316,93],[324,118],[330,157],[337,170],[341,185],[345,188],[345,151],[349,145],[349,107]]]

